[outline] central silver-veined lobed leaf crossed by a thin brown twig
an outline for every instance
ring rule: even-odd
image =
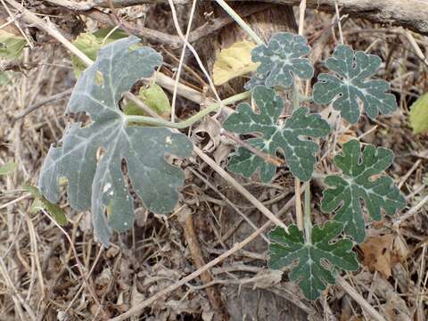
[[[275,155],[278,149],[282,150],[292,174],[303,181],[309,180],[316,161],[314,153],[318,152],[319,147],[303,137],[327,136],[330,133],[328,123],[318,114],[309,114],[308,108],[300,107],[284,124],[278,124],[284,101],[275,90],[256,86],[252,97],[259,113],[253,112],[248,103],[241,103],[236,112],[225,120],[223,127],[238,134],[262,134],[246,142],[270,155]],[[275,165],[242,147],[232,156],[228,168],[244,177],[251,177],[260,169],[264,182],[272,179],[276,171]]]

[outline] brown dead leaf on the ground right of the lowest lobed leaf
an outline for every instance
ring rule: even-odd
[[[391,276],[391,250],[393,235],[367,237],[366,242],[359,245],[363,251],[365,265],[370,271],[378,271],[386,278]]]

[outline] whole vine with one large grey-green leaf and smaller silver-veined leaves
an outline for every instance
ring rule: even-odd
[[[165,155],[188,157],[193,144],[171,128],[185,128],[208,113],[201,111],[190,120],[170,123],[120,111],[122,95],[136,80],[152,77],[162,63],[160,53],[136,43],[136,37],[128,37],[104,46],[95,63],[78,78],[67,112],[84,111],[91,123],[85,127],[79,123],[70,126],[62,144],[48,152],[39,179],[45,198],[58,202],[60,178],[67,178],[70,206],[91,210],[95,237],[106,246],[112,230],[121,232],[133,225],[134,203],[129,183],[147,210],[163,214],[173,210],[184,173],[166,161]],[[405,199],[384,173],[393,162],[393,152],[350,140],[342,144],[342,152],[334,157],[337,174],[324,180],[320,209],[334,212],[333,219],[322,226],[312,226],[309,182],[314,177],[320,151],[318,142],[335,128],[319,113],[300,106],[303,95],[298,81],[314,75],[311,62],[305,58],[309,51],[306,38],[292,33],[276,34],[267,45],[255,47],[252,61],[259,62],[259,67],[245,88],[251,91],[258,111],[241,103],[223,127],[251,136],[244,142],[261,152],[237,146],[230,155],[229,170],[243,177],[258,172],[263,182],[269,182],[275,176],[276,165],[261,154],[279,155],[294,177],[307,182],[304,228],[292,225],[286,231],[276,226],[269,233],[268,266],[292,266],[290,278],[300,285],[307,299],[316,300],[328,284],[334,284],[339,269],[358,269],[352,248],[365,239],[363,212],[379,220],[382,211],[391,215],[403,209]],[[330,72],[318,76],[313,96],[305,99],[321,106],[332,103],[333,109],[350,123],[358,122],[360,105],[371,119],[391,113],[397,109],[397,103],[388,93],[390,85],[371,78],[380,64],[381,59],[373,54],[339,45],[325,62]],[[280,116],[284,112],[283,97],[287,95],[292,97],[294,109],[283,121]],[[236,95],[226,101],[235,103],[247,96]],[[103,153],[97,160],[99,149]],[[123,161],[128,176],[122,170]]]

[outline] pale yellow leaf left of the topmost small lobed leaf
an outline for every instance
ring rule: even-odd
[[[256,70],[259,62],[251,61],[251,50],[255,46],[256,44],[249,41],[241,41],[222,50],[214,63],[214,85],[223,85],[232,78]]]

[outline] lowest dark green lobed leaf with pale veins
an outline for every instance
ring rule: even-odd
[[[334,268],[351,271],[358,268],[352,242],[334,241],[342,228],[342,223],[335,221],[325,222],[324,227],[314,226],[310,242],[305,242],[297,226],[289,226],[288,234],[277,226],[269,233],[269,268],[280,269],[299,261],[292,268],[290,279],[299,283],[307,299],[317,300],[327,284],[335,283]]]

